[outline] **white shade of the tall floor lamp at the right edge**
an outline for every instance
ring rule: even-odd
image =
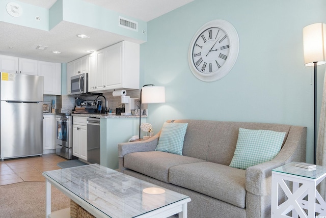
[[[304,34],[304,58],[306,66],[326,64],[326,24],[307,25]]]

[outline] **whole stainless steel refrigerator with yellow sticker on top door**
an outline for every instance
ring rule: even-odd
[[[43,76],[1,72],[0,159],[43,154]]]

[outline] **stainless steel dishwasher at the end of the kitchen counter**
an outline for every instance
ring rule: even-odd
[[[88,118],[87,121],[87,161],[100,164],[100,118]]]

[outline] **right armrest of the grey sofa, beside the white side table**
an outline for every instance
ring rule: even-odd
[[[257,196],[270,195],[271,170],[293,161],[305,162],[306,144],[307,127],[291,126],[284,146],[273,160],[247,168],[247,192]]]

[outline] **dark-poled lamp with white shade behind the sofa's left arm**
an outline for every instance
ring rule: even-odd
[[[141,99],[139,104],[139,138],[141,139],[141,119],[142,103],[165,103],[165,87],[154,86],[153,84],[144,85],[141,89]]]

